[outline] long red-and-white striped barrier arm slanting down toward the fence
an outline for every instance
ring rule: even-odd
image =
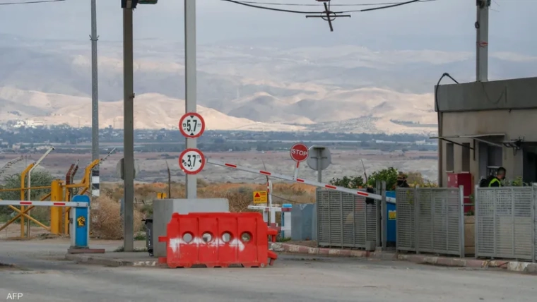
[[[214,164],[216,166],[236,169],[236,170],[239,170],[239,171],[246,171],[246,172],[250,172],[250,173],[254,173],[254,174],[261,174],[261,175],[264,175],[264,176],[273,177],[275,179],[283,179],[285,181],[293,181],[295,183],[305,183],[305,184],[310,185],[310,186],[317,186],[317,187],[320,187],[320,188],[327,188],[327,189],[334,190],[334,191],[350,193],[350,194],[353,194],[353,195],[359,195],[359,196],[362,196],[362,197],[372,198],[372,199],[375,199],[375,200],[382,200],[382,195],[378,195],[378,194],[372,194],[372,193],[367,193],[367,192],[363,192],[363,191],[356,191],[356,190],[353,190],[353,189],[350,189],[350,188],[343,188],[343,187],[340,187],[340,186],[334,186],[334,185],[331,185],[331,184],[328,184],[328,183],[318,183],[317,181],[308,181],[307,179],[298,179],[298,178],[293,179],[293,177],[291,177],[291,176],[285,176],[283,174],[276,174],[276,173],[272,173],[272,172],[269,172],[269,171],[256,170],[256,169],[251,169],[251,168],[247,168],[247,167],[240,167],[237,164],[230,164],[228,162],[220,162],[220,161],[215,160],[215,159],[208,158],[207,163],[208,164]],[[395,198],[386,197],[386,202],[387,203],[395,203]]]

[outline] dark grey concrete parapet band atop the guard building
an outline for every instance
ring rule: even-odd
[[[537,108],[536,96],[537,78],[439,85],[438,107],[442,112]]]

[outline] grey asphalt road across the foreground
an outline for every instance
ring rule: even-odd
[[[410,262],[281,255],[264,269],[99,267],[60,260],[39,243],[0,241],[0,301],[536,301],[537,277]],[[14,246],[14,247],[13,247]],[[20,246],[28,249],[13,253]],[[32,248],[30,248],[31,250]],[[10,250],[9,253],[6,251]]]

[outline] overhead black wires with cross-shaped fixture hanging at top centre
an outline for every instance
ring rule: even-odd
[[[333,32],[334,28],[332,27],[332,21],[340,17],[350,17],[348,13],[364,13],[367,11],[378,11],[380,9],[393,8],[396,6],[403,6],[406,4],[413,4],[419,2],[431,2],[437,0],[409,0],[403,2],[388,2],[388,3],[378,3],[378,4],[331,4],[331,0],[317,0],[322,2],[322,4],[296,4],[296,3],[273,3],[273,2],[261,2],[261,1],[240,1],[240,0],[222,0],[226,2],[231,2],[233,4],[238,4],[242,6],[249,6],[252,8],[265,9],[268,11],[279,11],[282,13],[300,13],[306,16],[306,18],[322,18],[327,21],[330,26],[330,31]],[[324,11],[297,11],[293,9],[277,8],[273,6],[320,6],[324,8]],[[341,11],[331,11],[331,6],[374,6],[371,8],[362,8],[362,9],[349,9]]]

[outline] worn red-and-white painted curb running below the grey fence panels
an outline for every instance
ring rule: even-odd
[[[537,274],[537,263],[519,262],[510,260],[478,260],[462,259],[450,257],[437,257],[431,255],[398,254],[390,252],[367,252],[365,250],[342,250],[338,248],[310,248],[307,246],[297,246],[289,243],[272,243],[271,249],[275,252],[297,253],[309,255],[332,255],[340,257],[373,258],[380,260],[402,260],[417,264],[439,265],[447,267],[476,267],[488,268],[496,267],[511,272],[521,272],[526,274]]]

